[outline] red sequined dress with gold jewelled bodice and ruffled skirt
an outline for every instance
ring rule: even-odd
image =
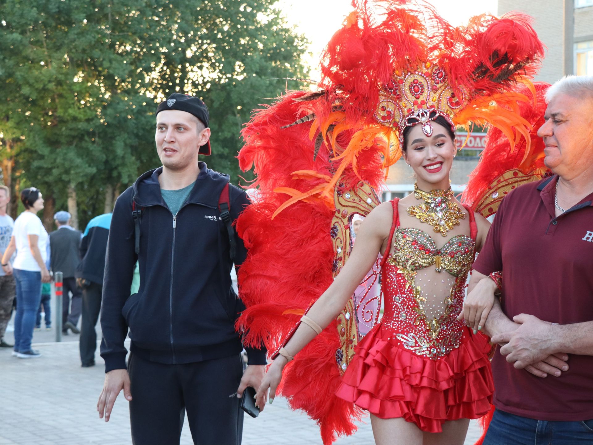
[[[490,411],[494,386],[482,334],[457,316],[477,235],[454,236],[440,249],[420,229],[400,228],[397,199],[382,260],[385,310],[356,347],[337,396],[380,418],[403,417],[439,433],[442,423],[479,418]]]

